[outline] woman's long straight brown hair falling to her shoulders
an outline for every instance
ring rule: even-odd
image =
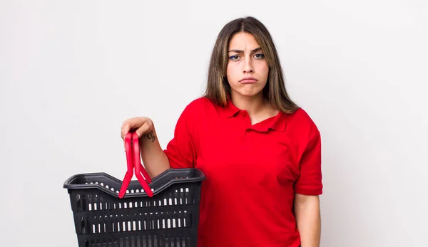
[[[252,34],[265,54],[269,75],[265,88],[263,88],[263,96],[276,110],[286,113],[295,112],[299,107],[292,102],[285,89],[282,67],[272,37],[263,23],[252,16],[230,21],[218,34],[211,54],[204,97],[221,106],[226,104],[226,100],[230,96],[230,85],[226,78],[228,46],[230,39],[240,32]]]

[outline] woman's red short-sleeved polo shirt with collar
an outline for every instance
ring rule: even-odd
[[[206,98],[180,115],[164,150],[172,168],[195,167],[201,188],[198,247],[297,247],[295,193],[322,194],[320,132],[307,113],[251,125],[245,110]]]

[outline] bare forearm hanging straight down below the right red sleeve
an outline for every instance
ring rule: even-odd
[[[295,216],[301,247],[319,247],[321,236],[319,197],[296,194]]]

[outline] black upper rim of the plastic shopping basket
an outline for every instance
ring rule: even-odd
[[[177,174],[177,176],[180,176],[183,172],[195,172],[195,177],[189,177],[187,179],[169,179],[168,182],[162,182],[164,177],[170,176],[170,173]],[[111,179],[113,182],[117,182],[119,184],[122,184],[121,179],[117,179],[116,177],[111,176],[110,174],[106,172],[90,172],[90,173],[81,173],[81,174],[74,174],[71,177],[68,177],[66,181],[63,183],[63,189],[99,189],[103,192],[106,192],[107,194],[110,194],[111,196],[115,196],[119,198],[119,194],[116,193],[116,191],[111,191],[110,189],[107,189],[105,186],[101,186],[101,184],[73,184],[73,181],[75,179],[78,179],[79,177],[106,177],[107,179]],[[171,168],[167,169],[158,176],[154,177],[152,179],[151,184],[149,184],[150,187],[155,185],[158,187],[158,189],[153,191],[153,196],[156,194],[161,193],[163,190],[167,189],[172,184],[183,184],[183,183],[193,183],[193,182],[202,182],[205,180],[205,174],[200,171],[200,169],[197,168]],[[129,185],[139,184],[138,180],[131,180]],[[126,193],[123,198],[132,198],[132,197],[141,197],[141,196],[148,196],[146,191],[144,192],[138,192],[138,193]]]

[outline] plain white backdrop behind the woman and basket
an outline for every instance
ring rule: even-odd
[[[63,182],[162,147],[232,19],[271,32],[322,134],[322,247],[428,246],[427,1],[0,1],[1,246],[76,247]],[[268,165],[268,164],[267,164]]]

